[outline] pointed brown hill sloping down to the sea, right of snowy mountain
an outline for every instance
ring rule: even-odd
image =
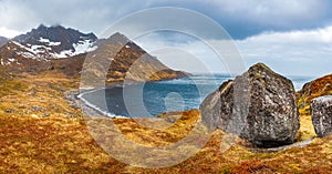
[[[111,35],[95,51],[89,53],[86,64],[89,63],[92,65],[86,70],[89,75],[85,78],[103,78],[100,76],[102,70],[108,69],[107,82],[159,81],[188,75],[169,69],[121,33]]]

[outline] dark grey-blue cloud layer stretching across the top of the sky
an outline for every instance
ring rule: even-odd
[[[40,23],[63,24],[101,34],[111,23],[152,7],[197,10],[236,39],[263,31],[321,28],[331,23],[328,0],[1,0],[0,28],[25,32]]]

